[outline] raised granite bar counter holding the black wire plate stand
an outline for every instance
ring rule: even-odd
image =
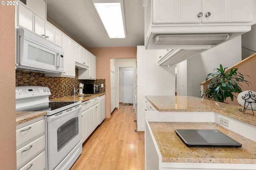
[[[146,99],[160,112],[214,112],[256,126],[256,116],[251,110],[244,114],[242,106],[230,105],[190,96],[146,96]]]

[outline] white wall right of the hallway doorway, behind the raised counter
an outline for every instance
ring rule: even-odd
[[[175,66],[157,64],[156,50],[137,46],[138,115],[137,130],[144,131],[145,96],[175,95]]]

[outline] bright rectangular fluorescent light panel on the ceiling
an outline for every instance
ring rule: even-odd
[[[92,0],[109,38],[126,38],[122,0]]]

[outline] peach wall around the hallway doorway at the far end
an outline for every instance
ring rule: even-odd
[[[95,47],[96,79],[106,79],[106,118],[110,118],[110,59],[136,58],[137,47]]]

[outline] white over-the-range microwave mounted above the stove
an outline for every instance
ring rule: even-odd
[[[44,73],[64,72],[64,49],[17,28],[17,69]]]

